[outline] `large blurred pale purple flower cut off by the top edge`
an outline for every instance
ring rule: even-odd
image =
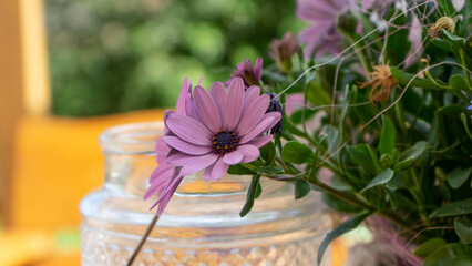
[[[298,0],[298,18],[312,23],[300,33],[300,42],[307,44],[307,58],[340,52],[341,35],[336,29],[337,17],[352,6],[351,0]]]

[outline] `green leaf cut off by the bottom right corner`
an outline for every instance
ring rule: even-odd
[[[472,246],[452,243],[428,256],[422,266],[470,266],[472,265]]]

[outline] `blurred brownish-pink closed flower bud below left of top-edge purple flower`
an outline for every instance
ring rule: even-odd
[[[291,70],[291,57],[297,53],[300,45],[297,38],[291,32],[285,33],[281,40],[274,40],[270,43],[270,58],[277,62],[277,65],[285,72]]]

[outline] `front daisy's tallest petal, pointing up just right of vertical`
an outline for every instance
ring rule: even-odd
[[[239,122],[244,102],[244,82],[240,78],[235,78],[229,84],[228,95],[225,104],[226,129],[234,130]]]

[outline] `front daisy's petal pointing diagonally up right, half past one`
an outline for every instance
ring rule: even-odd
[[[244,114],[237,126],[238,135],[246,135],[250,130],[259,123],[263,115],[266,113],[269,106],[270,96],[264,94],[259,96],[253,105],[245,109]]]

